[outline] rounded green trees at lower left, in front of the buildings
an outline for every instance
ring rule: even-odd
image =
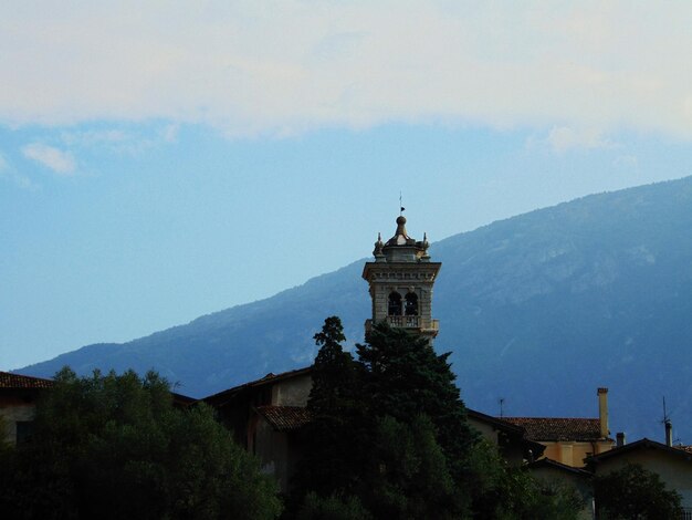
[[[211,408],[174,408],[168,384],[65,368],[35,435],[7,458],[0,506],[15,518],[270,519],[276,486]],[[6,482],[3,482],[6,483]]]

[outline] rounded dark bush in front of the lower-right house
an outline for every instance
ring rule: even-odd
[[[598,518],[654,520],[681,518],[680,495],[665,489],[658,474],[628,464],[594,479]]]

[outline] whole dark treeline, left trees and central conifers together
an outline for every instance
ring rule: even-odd
[[[579,497],[508,466],[469,426],[448,354],[376,325],[355,356],[338,318],[319,352],[305,457],[280,496],[205,404],[168,383],[64,368],[30,441],[0,450],[2,518],[574,519]]]

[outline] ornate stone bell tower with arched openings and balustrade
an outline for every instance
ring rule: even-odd
[[[416,241],[406,232],[406,218],[397,218],[397,230],[387,243],[378,235],[375,261],[366,262],[363,278],[370,287],[373,318],[365,322],[366,332],[373,323],[387,321],[391,326],[407,329],[427,337],[438,335],[438,320],[432,319],[432,285],[440,262],[431,262],[428,240]]]

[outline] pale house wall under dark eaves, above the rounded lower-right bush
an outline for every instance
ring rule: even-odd
[[[682,497],[682,506],[692,508],[692,461],[657,449],[638,449],[596,466],[596,475],[621,469],[628,462],[638,464],[649,471],[659,474],[667,489],[674,489]]]

